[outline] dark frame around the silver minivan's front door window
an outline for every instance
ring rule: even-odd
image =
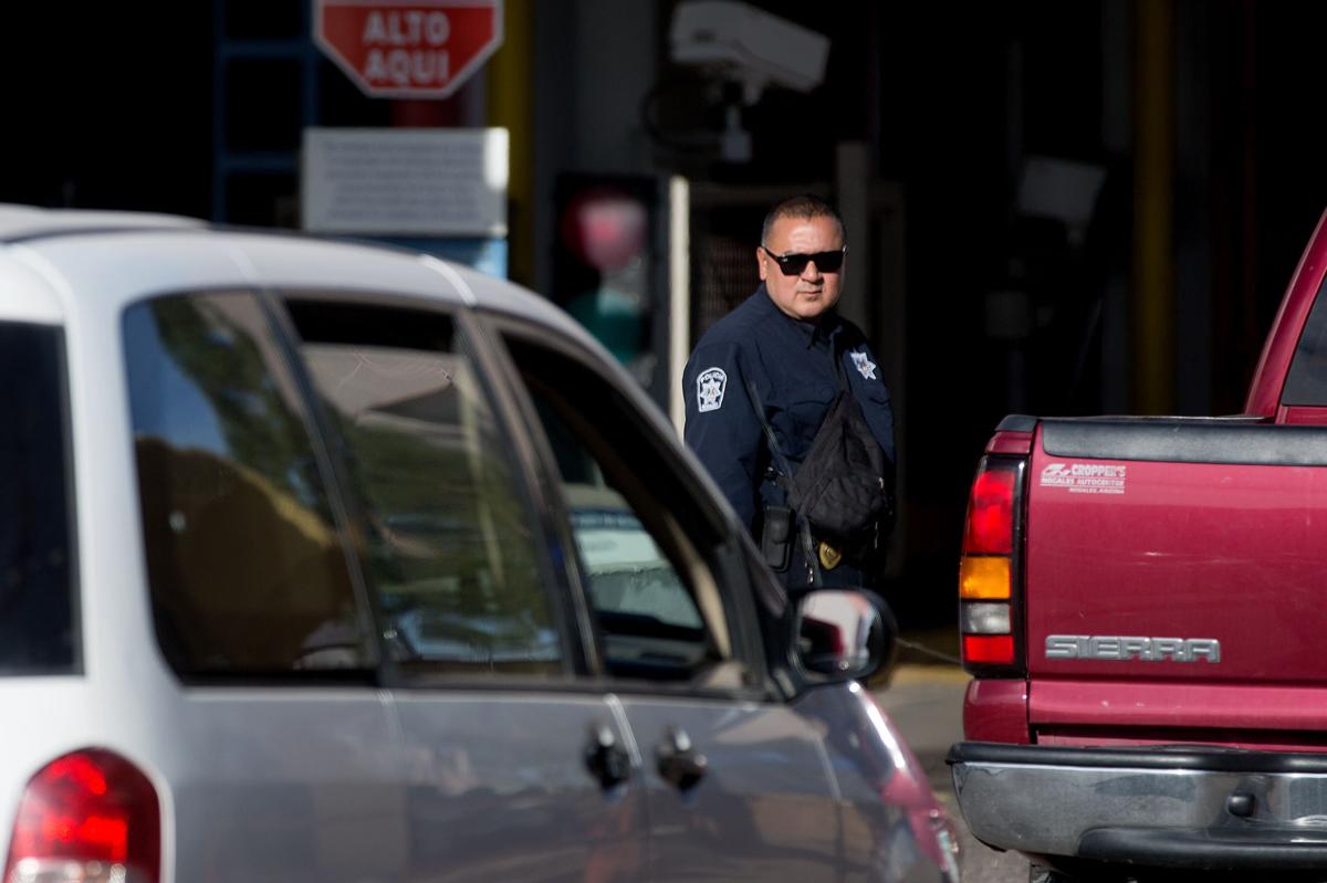
[[[784,691],[778,688],[770,680],[771,667],[768,664],[770,660],[766,656],[763,634],[755,610],[755,599],[752,597],[754,587],[750,585],[750,578],[746,573],[744,556],[742,554],[740,540],[736,533],[742,528],[731,513],[727,513],[710,497],[707,485],[698,475],[695,475],[686,457],[682,456],[678,449],[665,443],[652,445],[654,448],[654,455],[669,467],[674,476],[682,480],[686,495],[695,502],[698,512],[709,522],[707,528],[715,534],[715,542],[709,548],[702,548],[701,544],[695,544],[697,552],[702,556],[705,565],[710,569],[714,577],[715,587],[719,594],[723,614],[730,631],[733,659],[739,660],[748,667],[751,684],[731,687],[698,684],[694,679],[675,681],[628,679],[612,675],[606,671],[602,651],[598,650],[602,646],[602,635],[600,634],[593,614],[593,606],[589,601],[588,585],[583,574],[583,563],[580,561],[576,540],[571,528],[569,505],[561,489],[561,481],[557,480],[557,476],[560,475],[557,461],[553,455],[552,444],[549,443],[543,424],[536,414],[529,391],[522,381],[520,367],[516,365],[514,355],[506,346],[503,339],[504,335],[511,334],[514,337],[524,338],[532,345],[551,350],[553,354],[577,362],[583,367],[593,371],[605,384],[618,392],[620,396],[628,403],[632,412],[624,414],[622,416],[624,419],[629,419],[636,426],[637,432],[642,436],[654,438],[653,434],[656,434],[661,427],[644,412],[645,407],[650,407],[645,399],[644,391],[632,386],[630,378],[626,378],[625,375],[620,377],[621,369],[618,369],[618,366],[609,366],[605,362],[593,358],[587,351],[584,343],[575,341],[564,331],[556,330],[544,322],[498,310],[476,309],[475,318],[491,337],[495,353],[500,354],[504,381],[510,384],[510,394],[519,404],[524,430],[529,435],[532,447],[539,456],[539,475],[545,476],[548,485],[547,497],[549,499],[552,506],[551,510],[556,514],[556,529],[563,537],[564,548],[569,549],[572,553],[567,557],[568,566],[573,571],[571,578],[573,579],[575,591],[580,597],[580,603],[585,610],[587,619],[584,627],[587,628],[587,635],[592,638],[596,647],[593,658],[597,664],[587,672],[587,676],[601,688],[620,693],[718,696],[758,701],[784,697]],[[687,530],[687,538],[691,542],[695,542],[695,537],[691,530]],[[699,606],[699,602],[697,603]]]

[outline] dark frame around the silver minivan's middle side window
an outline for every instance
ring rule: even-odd
[[[499,381],[502,366],[500,362],[495,361],[494,353],[491,351],[492,342],[487,339],[484,329],[475,322],[471,308],[463,304],[451,304],[429,297],[403,294],[399,292],[366,290],[358,288],[352,290],[321,286],[311,288],[303,285],[280,285],[272,286],[269,292],[277,302],[281,313],[281,321],[285,324],[283,327],[283,335],[288,341],[291,355],[297,362],[296,370],[301,377],[301,383],[307,384],[304,388],[305,395],[309,399],[309,408],[314,415],[318,432],[322,434],[324,444],[332,457],[333,479],[337,484],[338,495],[348,506],[350,524],[353,525],[353,530],[356,533],[361,533],[364,530],[365,514],[353,489],[349,468],[346,467],[345,459],[338,452],[340,448],[336,442],[340,439],[336,432],[334,423],[330,415],[326,414],[326,407],[318,395],[317,387],[313,383],[312,377],[309,377],[303,355],[300,354],[303,338],[299,337],[293,320],[285,308],[288,301],[344,304],[366,309],[381,308],[418,310],[435,313],[450,320],[454,333],[458,334],[463,342],[466,353],[472,357],[471,367],[475,373],[475,382],[487,396],[494,411],[494,423],[503,439],[508,443],[508,451],[512,455],[510,464],[512,483],[518,496],[520,497],[520,505],[525,510],[529,520],[531,538],[535,544],[535,557],[539,565],[540,581],[548,594],[549,607],[553,613],[555,626],[557,628],[559,647],[561,650],[561,671],[556,675],[545,676],[520,675],[514,672],[468,674],[455,671],[425,671],[422,668],[411,670],[398,666],[397,662],[391,659],[390,652],[380,652],[378,658],[382,687],[391,689],[437,689],[439,687],[446,687],[449,689],[474,688],[500,691],[528,691],[531,688],[537,688],[540,691],[579,689],[579,677],[589,667],[589,662],[585,659],[585,640],[581,635],[581,630],[577,627],[579,617],[581,614],[576,610],[573,599],[575,593],[571,591],[569,586],[565,583],[564,575],[559,573],[559,567],[553,563],[557,556],[553,553],[555,545],[549,533],[551,525],[548,524],[547,516],[548,505],[547,501],[543,500],[539,483],[535,480],[535,476],[537,475],[533,468],[535,453],[529,449],[531,445],[523,435],[523,427],[516,416],[515,403],[510,400],[510,390],[504,382]],[[356,566],[360,570],[370,599],[370,609],[377,624],[376,635],[381,642],[384,632],[390,630],[391,626],[382,614],[378,590],[373,585],[373,579],[364,566],[360,553],[356,550],[353,554],[356,558]],[[565,558],[565,556],[561,557]]]

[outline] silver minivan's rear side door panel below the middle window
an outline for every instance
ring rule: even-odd
[[[597,727],[629,745],[604,695],[421,687],[397,691],[394,704],[407,766],[405,879],[646,876],[638,765],[616,788],[585,765]]]

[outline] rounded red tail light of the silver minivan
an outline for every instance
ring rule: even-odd
[[[159,879],[161,809],[137,766],[89,748],[32,777],[19,802],[5,883]]]

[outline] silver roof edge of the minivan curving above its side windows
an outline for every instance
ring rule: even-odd
[[[464,265],[382,243],[220,228],[175,215],[0,204],[0,282],[20,292],[5,313],[37,321],[90,304],[119,313],[157,294],[227,288],[418,297],[549,325],[606,355],[547,298]]]

